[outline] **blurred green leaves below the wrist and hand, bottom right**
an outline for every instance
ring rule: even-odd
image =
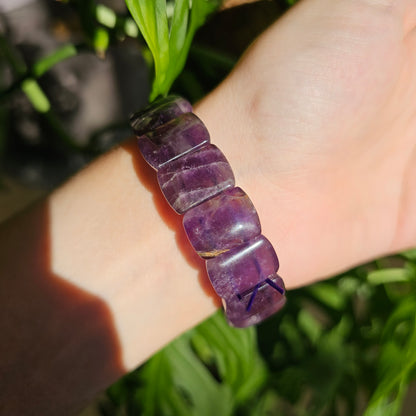
[[[288,296],[257,328],[216,313],[114,384],[101,414],[398,415],[416,377],[416,259]]]

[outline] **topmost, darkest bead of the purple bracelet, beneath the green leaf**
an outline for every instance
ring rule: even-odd
[[[137,136],[142,136],[149,131],[167,123],[183,113],[192,112],[191,104],[176,95],[159,98],[134,113],[130,117],[130,124]]]

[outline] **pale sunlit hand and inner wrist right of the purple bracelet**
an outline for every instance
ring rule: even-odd
[[[201,103],[289,287],[416,245],[415,97],[413,0],[309,0]]]

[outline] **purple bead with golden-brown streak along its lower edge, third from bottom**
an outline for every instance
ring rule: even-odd
[[[241,188],[233,188],[190,209],[183,217],[189,241],[204,258],[237,247],[261,232],[257,211]]]

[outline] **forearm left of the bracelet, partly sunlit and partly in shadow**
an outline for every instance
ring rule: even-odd
[[[73,414],[215,308],[179,217],[127,148],[2,230],[2,415]]]

